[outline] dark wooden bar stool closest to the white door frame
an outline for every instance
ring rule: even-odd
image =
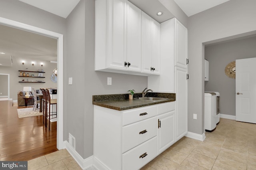
[[[46,93],[46,117],[48,117],[49,121],[49,131],[50,131],[50,119],[57,118],[57,99],[51,99],[50,91],[48,89],[45,90]],[[56,112],[51,111],[51,106],[56,105]],[[54,117],[56,116],[56,117]]]

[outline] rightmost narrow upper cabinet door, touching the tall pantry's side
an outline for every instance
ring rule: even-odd
[[[160,74],[160,24],[152,19],[152,67],[153,74]]]

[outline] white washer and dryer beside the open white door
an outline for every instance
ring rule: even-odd
[[[220,122],[220,93],[206,91],[204,93],[204,129],[215,130]]]

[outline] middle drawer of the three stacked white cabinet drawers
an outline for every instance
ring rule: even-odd
[[[156,136],[157,118],[152,117],[122,127],[122,153]]]

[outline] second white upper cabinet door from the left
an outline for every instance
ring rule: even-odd
[[[127,1],[127,70],[141,72],[141,10]]]

